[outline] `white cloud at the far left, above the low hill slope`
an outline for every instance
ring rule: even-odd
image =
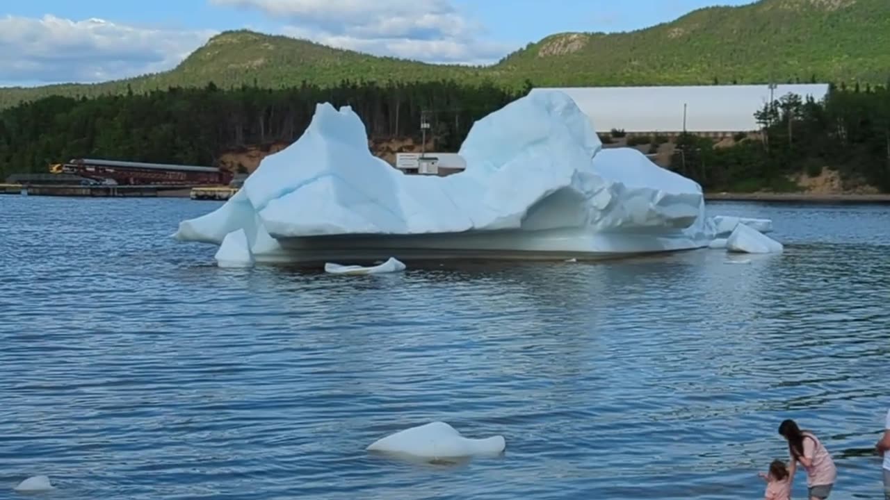
[[[213,31],[0,17],[0,85],[98,82],[173,68]]]

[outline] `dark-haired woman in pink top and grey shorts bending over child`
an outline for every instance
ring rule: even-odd
[[[801,431],[797,423],[790,419],[779,425],[779,434],[788,440],[791,456],[789,475],[794,477],[799,462],[806,471],[806,486],[809,488],[810,500],[828,498],[831,487],[837,480],[837,469],[831,460],[829,450],[822,446],[813,432]]]

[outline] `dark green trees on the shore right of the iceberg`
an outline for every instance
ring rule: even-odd
[[[731,147],[690,134],[676,141],[671,169],[710,191],[797,190],[790,180],[823,168],[845,187],[890,192],[890,90],[846,85],[822,101],[787,94],[755,114],[761,133],[738,134]]]

